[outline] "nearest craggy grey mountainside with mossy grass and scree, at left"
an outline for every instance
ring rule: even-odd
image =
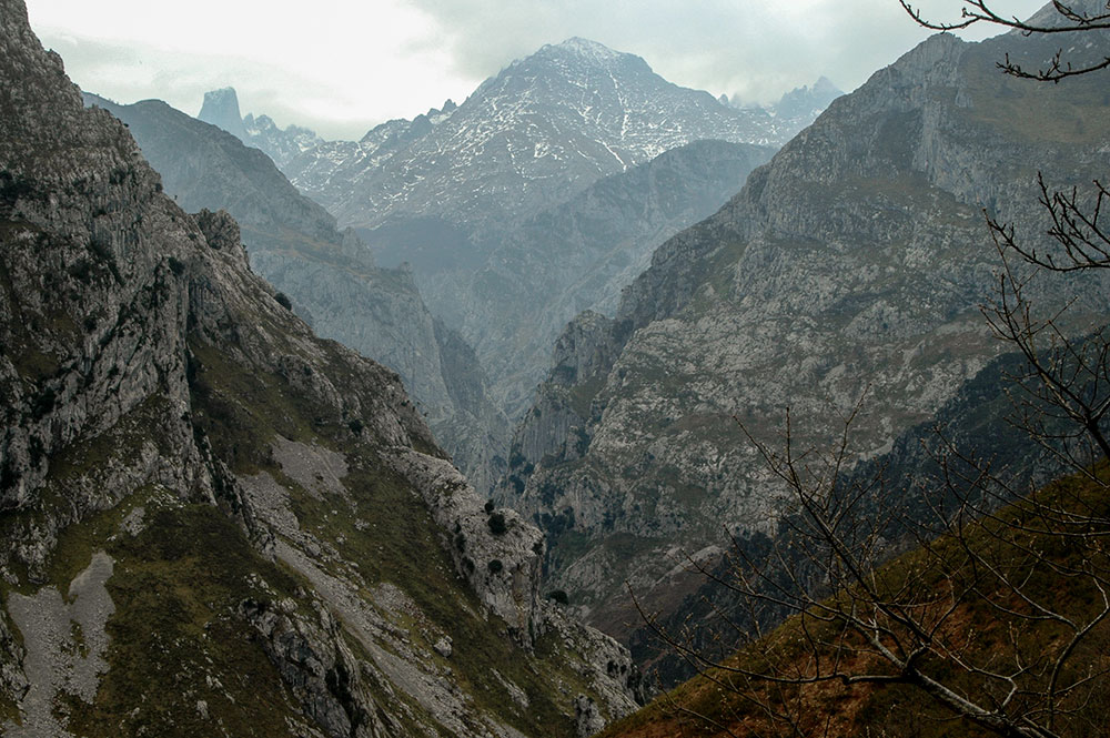
[[[7,736],[574,735],[632,707],[397,376],[316,338],[0,0]]]

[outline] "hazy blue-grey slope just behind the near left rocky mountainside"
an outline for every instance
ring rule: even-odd
[[[233,102],[234,91],[223,92]],[[205,98],[209,108],[214,99]],[[265,154],[224,131],[157,100],[118,105],[85,94],[85,103],[128,124],[180,206],[226,209],[241,224],[252,267],[317,334],[400,373],[438,442],[480,488],[490,487],[490,457],[505,457],[508,422],[486,400],[481,367],[454,360],[460,340],[436,327],[410,272],[375,266],[351,231],[340,233]]]

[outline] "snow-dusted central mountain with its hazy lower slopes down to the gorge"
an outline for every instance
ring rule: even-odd
[[[585,307],[612,311],[652,249],[774,150],[737,142],[781,142],[796,130],[783,125],[571,39],[461,105],[321,143],[284,171],[341,220],[366,214],[346,222],[379,263],[410,263],[433,313],[498,367],[493,393],[513,413],[562,325]]]

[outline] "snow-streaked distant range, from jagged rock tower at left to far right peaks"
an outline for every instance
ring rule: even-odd
[[[444,160],[437,165],[451,165],[445,160],[453,158],[455,168],[478,163],[477,152],[478,159],[496,158],[523,176],[521,194],[528,198],[537,180],[565,179],[568,173],[571,179],[587,173],[596,179],[693,141],[779,146],[840,94],[823,77],[813,87],[787,92],[775,105],[743,105],[725,95],[715,100],[665,80],[636,54],[574,37],[513,61],[462,105],[447,100],[412,120],[386,121],[357,142],[325,142],[296,125],[282,130],[266,115],[243,118],[232,88],[205,93],[199,118],[265,151],[290,180],[343,222],[376,228],[400,205],[397,195],[412,203],[413,183],[391,182],[386,186],[397,185],[392,192],[369,188],[371,204],[349,185],[363,188],[377,180],[370,170],[389,170],[386,160],[407,162],[402,165],[406,172],[423,170],[424,162],[405,156],[411,148],[414,155],[432,153]],[[435,150],[421,152],[421,142]],[[576,168],[582,171],[566,171]],[[389,171],[382,175],[390,179]],[[421,176],[427,179],[423,171]],[[424,186],[435,185],[417,183],[415,189]],[[547,202],[549,195],[539,200]]]

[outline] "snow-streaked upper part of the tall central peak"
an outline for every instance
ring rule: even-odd
[[[457,243],[694,141],[780,145],[795,132],[668,82],[640,57],[572,38],[512,62],[457,109],[326,143],[285,171],[345,225],[434,219]]]

